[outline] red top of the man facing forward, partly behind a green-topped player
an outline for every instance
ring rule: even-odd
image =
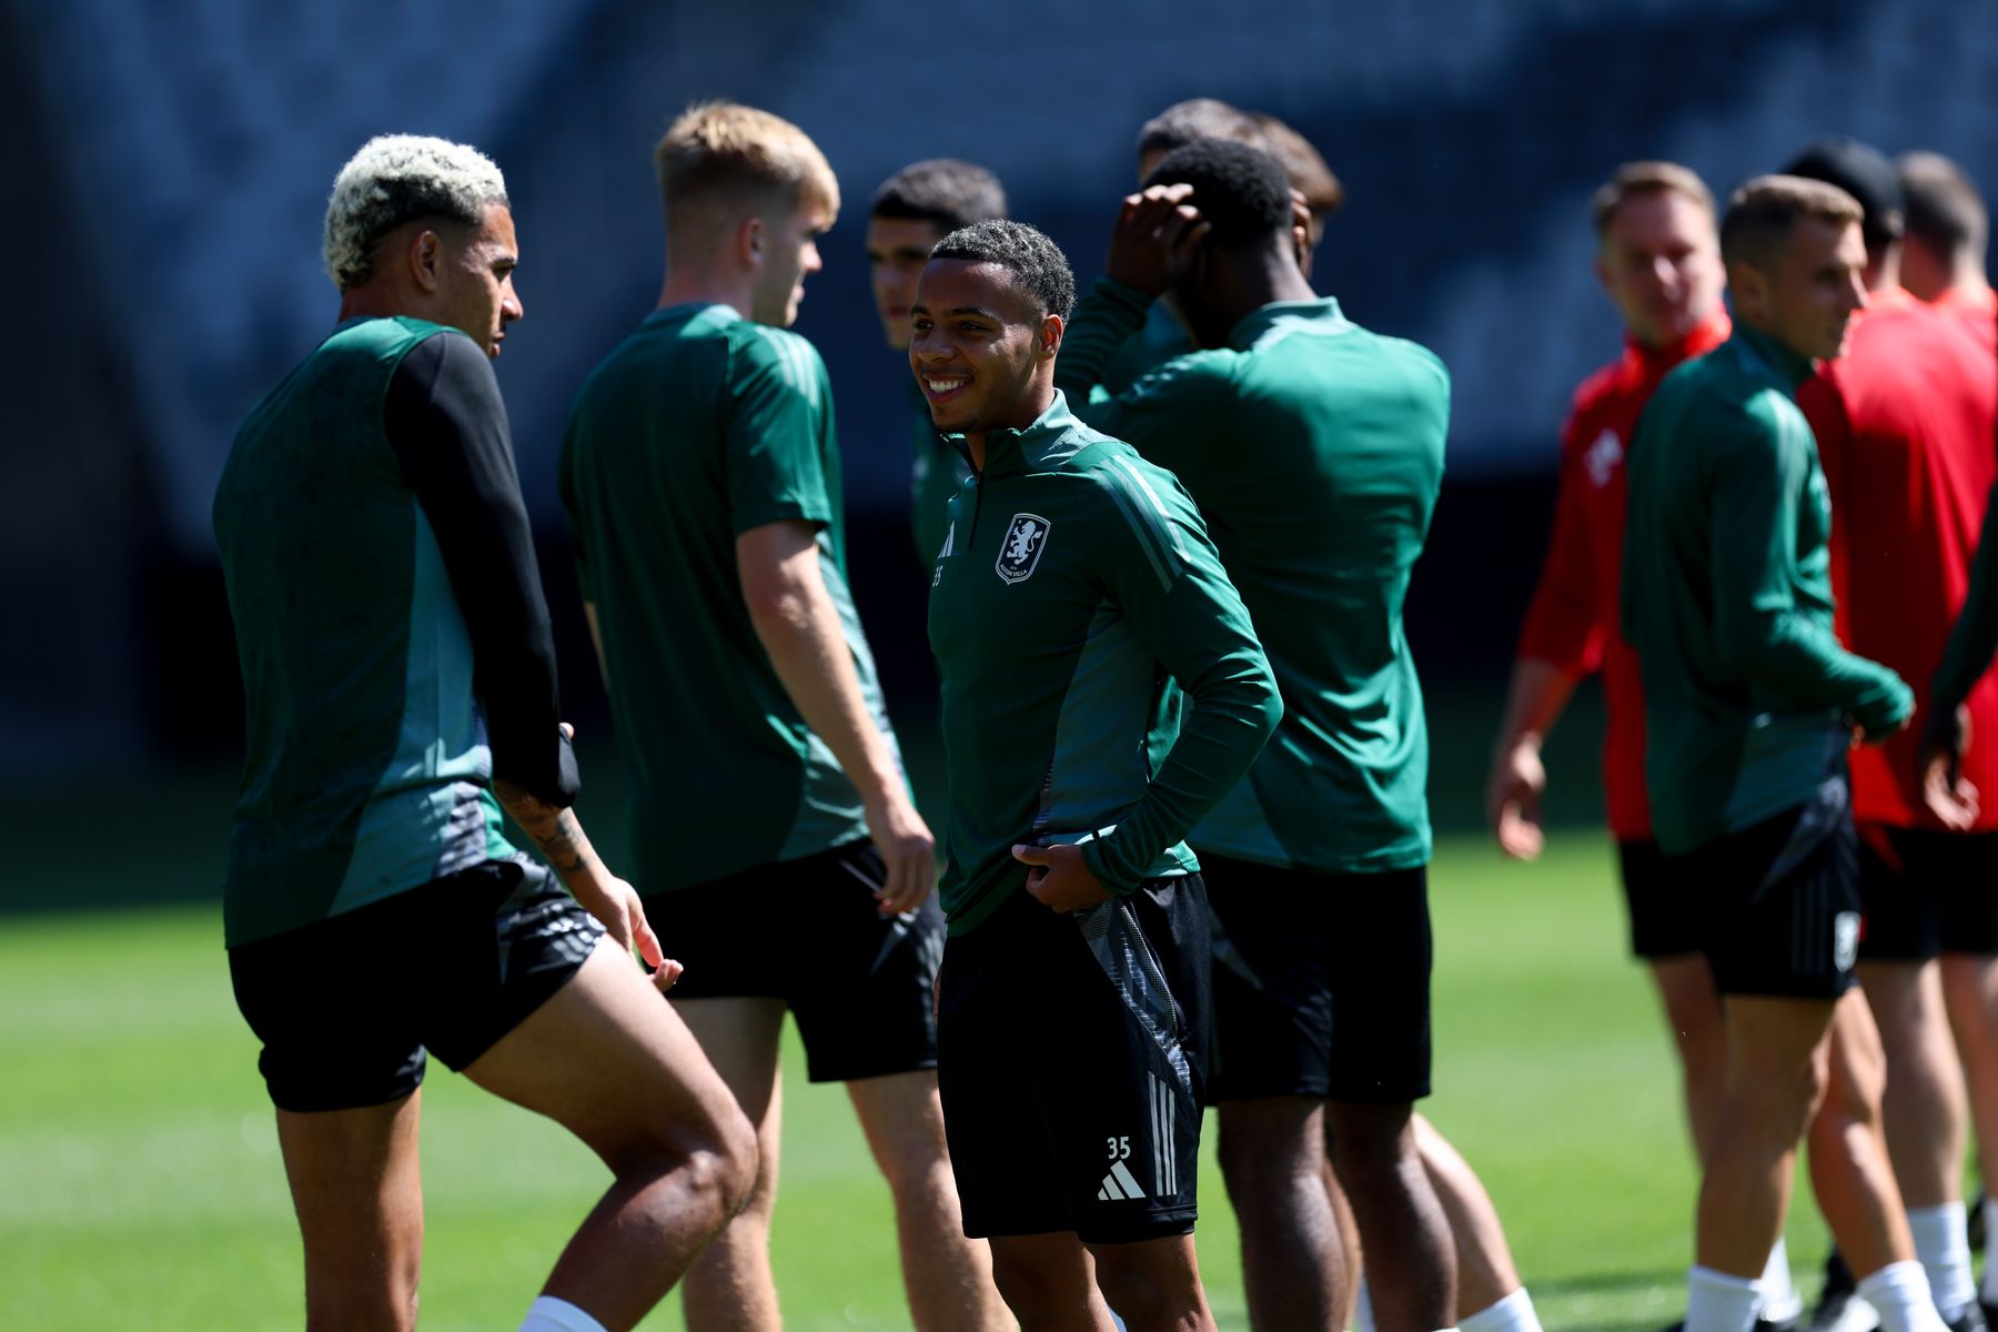
[[[1602,671],[1608,735],[1602,791],[1616,841],[1650,837],[1644,799],[1644,693],[1636,653],[1616,627],[1622,585],[1624,449],[1652,389],[1680,361],[1706,355],[1728,337],[1726,310],[1684,339],[1644,347],[1624,339],[1620,359],[1582,379],[1560,427],[1560,493],[1546,563],[1518,631],[1518,657],[1548,661],[1568,675]]]

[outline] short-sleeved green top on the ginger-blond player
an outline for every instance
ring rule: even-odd
[[[753,527],[817,527],[861,691],[891,735],[847,593],[839,443],[817,349],[727,306],[655,310],[583,383],[559,483],[633,775],[637,889],[865,837],[859,791],[777,679],[735,563],[735,537]]]

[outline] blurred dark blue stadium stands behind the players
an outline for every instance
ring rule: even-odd
[[[500,375],[583,721],[601,699],[553,459],[569,395],[653,302],[647,152],[693,98],[795,120],[839,172],[847,204],[799,332],[833,373],[855,581],[905,711],[929,693],[901,533],[905,371],[861,256],[867,198],[905,162],[991,166],[1087,280],[1137,128],[1165,104],[1225,98],[1319,144],[1351,192],[1321,290],[1435,347],[1457,383],[1449,489],[1411,599],[1439,689],[1493,687],[1542,549],[1566,395],[1616,349],[1586,226],[1610,166],[1674,158],[1718,194],[1838,130],[1998,182],[1988,0],[765,0],[753,18],[637,0],[8,0],[0,72],[16,256],[0,783],[42,789],[234,761],[210,493],[244,409],[332,322],[326,190],[376,132],[462,138],[507,172],[527,320]]]

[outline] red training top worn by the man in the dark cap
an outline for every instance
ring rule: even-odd
[[[1998,451],[1998,365],[1968,322],[1904,292],[1876,294],[1846,353],[1796,393],[1832,493],[1838,637],[1914,689],[1914,721],[1852,751],[1860,823],[1940,829],[1922,805],[1916,743],[1928,681],[1970,587]],[[1998,791],[1998,677],[1970,691],[1964,775]],[[1998,829],[1998,801],[1978,815]]]

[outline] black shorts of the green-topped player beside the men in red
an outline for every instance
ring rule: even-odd
[[[1722,995],[1838,999],[1860,943],[1858,835],[1844,779],[1738,833],[1670,857],[1700,903]]]

